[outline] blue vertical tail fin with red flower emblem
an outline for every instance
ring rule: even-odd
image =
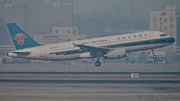
[[[7,27],[17,50],[40,46],[26,32],[24,32],[16,23],[8,23]]]

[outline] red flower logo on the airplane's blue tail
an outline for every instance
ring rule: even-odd
[[[19,45],[23,45],[24,44],[24,39],[26,39],[27,36],[25,34],[22,33],[18,33],[14,36],[14,40],[17,40],[17,43]]]

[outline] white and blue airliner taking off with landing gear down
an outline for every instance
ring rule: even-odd
[[[127,53],[142,50],[152,50],[154,53],[153,49],[175,42],[172,36],[164,32],[145,31],[42,45],[16,23],[8,23],[7,27],[16,47],[16,50],[7,53],[9,57],[47,61],[96,58],[96,67],[101,65],[101,58],[119,59],[126,57]],[[155,56],[153,54],[153,57]]]

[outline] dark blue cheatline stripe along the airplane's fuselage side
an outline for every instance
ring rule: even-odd
[[[171,44],[175,40],[173,37],[167,37],[167,38],[155,39],[153,42],[151,42],[151,41],[152,40],[143,40],[143,41],[120,43],[120,44],[102,46],[102,47],[115,48],[115,47],[131,47],[131,46],[150,45],[150,44]],[[79,49],[69,50],[69,51],[66,51],[66,55],[84,53],[84,52],[85,51],[79,51]],[[54,52],[54,53],[56,53],[56,52]]]

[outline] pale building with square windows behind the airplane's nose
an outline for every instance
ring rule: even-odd
[[[174,5],[167,5],[166,11],[150,12],[150,30],[162,31],[175,38],[174,46],[177,45],[177,14]]]

